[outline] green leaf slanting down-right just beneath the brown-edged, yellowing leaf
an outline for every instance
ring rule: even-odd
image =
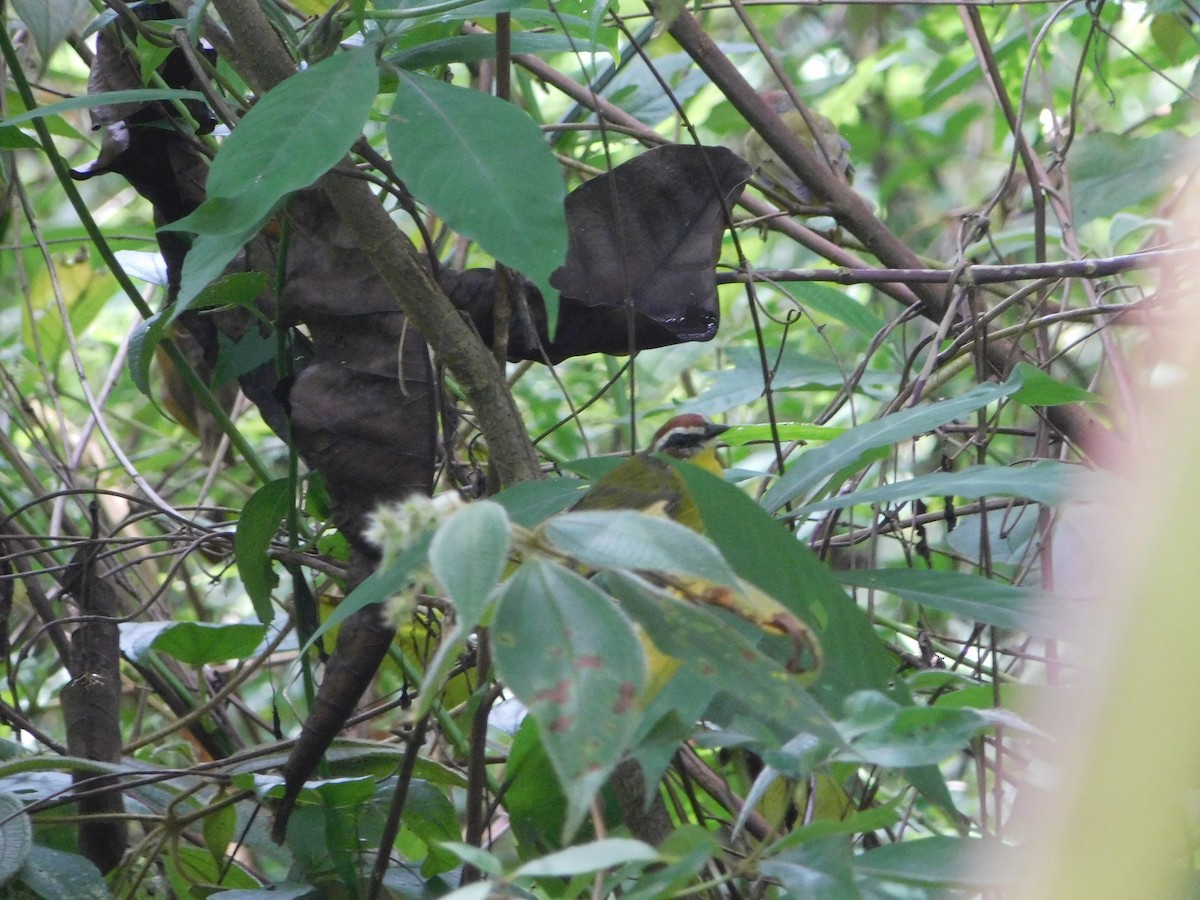
[[[679,666],[677,678],[736,691],[742,712],[786,732],[806,731],[827,743],[838,740],[800,677],[757,649],[727,620],[626,572],[601,577],[655,648]]]

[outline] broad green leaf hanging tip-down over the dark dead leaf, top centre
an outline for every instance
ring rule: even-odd
[[[481,91],[401,72],[388,145],[419,200],[554,305],[550,274],[566,256],[566,193],[528,115]]]

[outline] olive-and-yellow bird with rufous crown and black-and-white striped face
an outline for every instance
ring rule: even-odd
[[[716,449],[726,431],[727,425],[718,425],[698,413],[683,413],[668,419],[654,433],[648,450],[634,454],[601,476],[574,509],[661,512],[692,530],[703,532],[700,509],[683,476],[661,456],[688,462],[722,478],[725,468]]]

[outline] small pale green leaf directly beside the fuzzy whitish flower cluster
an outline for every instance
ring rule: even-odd
[[[480,620],[509,553],[504,508],[480,500],[455,512],[430,541],[430,568],[470,624]]]

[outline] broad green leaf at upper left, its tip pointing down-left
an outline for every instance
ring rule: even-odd
[[[379,88],[374,56],[347,50],[296,72],[251,107],[212,161],[208,199],[164,230],[238,234],[307,187],[358,139]]]

